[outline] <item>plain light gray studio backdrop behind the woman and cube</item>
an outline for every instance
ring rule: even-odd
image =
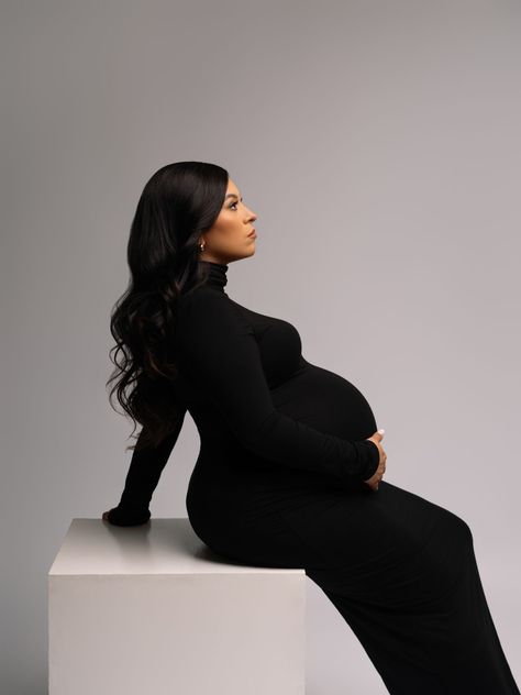
[[[363,390],[387,481],[472,527],[520,683],[520,3],[13,0],[0,19],[2,693],[46,692],[46,573],[71,518],[119,500],[109,312],[138,195],[180,159],[224,166],[258,216],[229,295]],[[186,516],[198,446],[187,417],[153,516]],[[308,584],[308,695],[385,693]]]

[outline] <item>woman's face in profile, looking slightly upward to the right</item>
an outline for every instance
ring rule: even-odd
[[[250,234],[256,219],[257,216],[244,205],[240,190],[230,178],[218,219],[199,239],[199,243],[204,244],[204,251],[199,253],[199,258],[230,263],[253,256],[255,234]]]

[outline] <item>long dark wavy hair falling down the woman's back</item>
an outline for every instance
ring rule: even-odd
[[[111,311],[110,350],[115,365],[109,401],[142,424],[129,449],[158,446],[179,417],[171,349],[179,295],[204,283],[198,242],[221,211],[229,174],[217,164],[175,162],[146,183],[131,225],[126,260],[130,282]],[[115,409],[115,408],[114,408]]]

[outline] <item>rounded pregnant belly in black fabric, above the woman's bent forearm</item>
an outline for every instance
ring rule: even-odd
[[[271,397],[277,410],[328,434],[359,440],[378,429],[369,404],[356,386],[309,362],[273,389]]]

